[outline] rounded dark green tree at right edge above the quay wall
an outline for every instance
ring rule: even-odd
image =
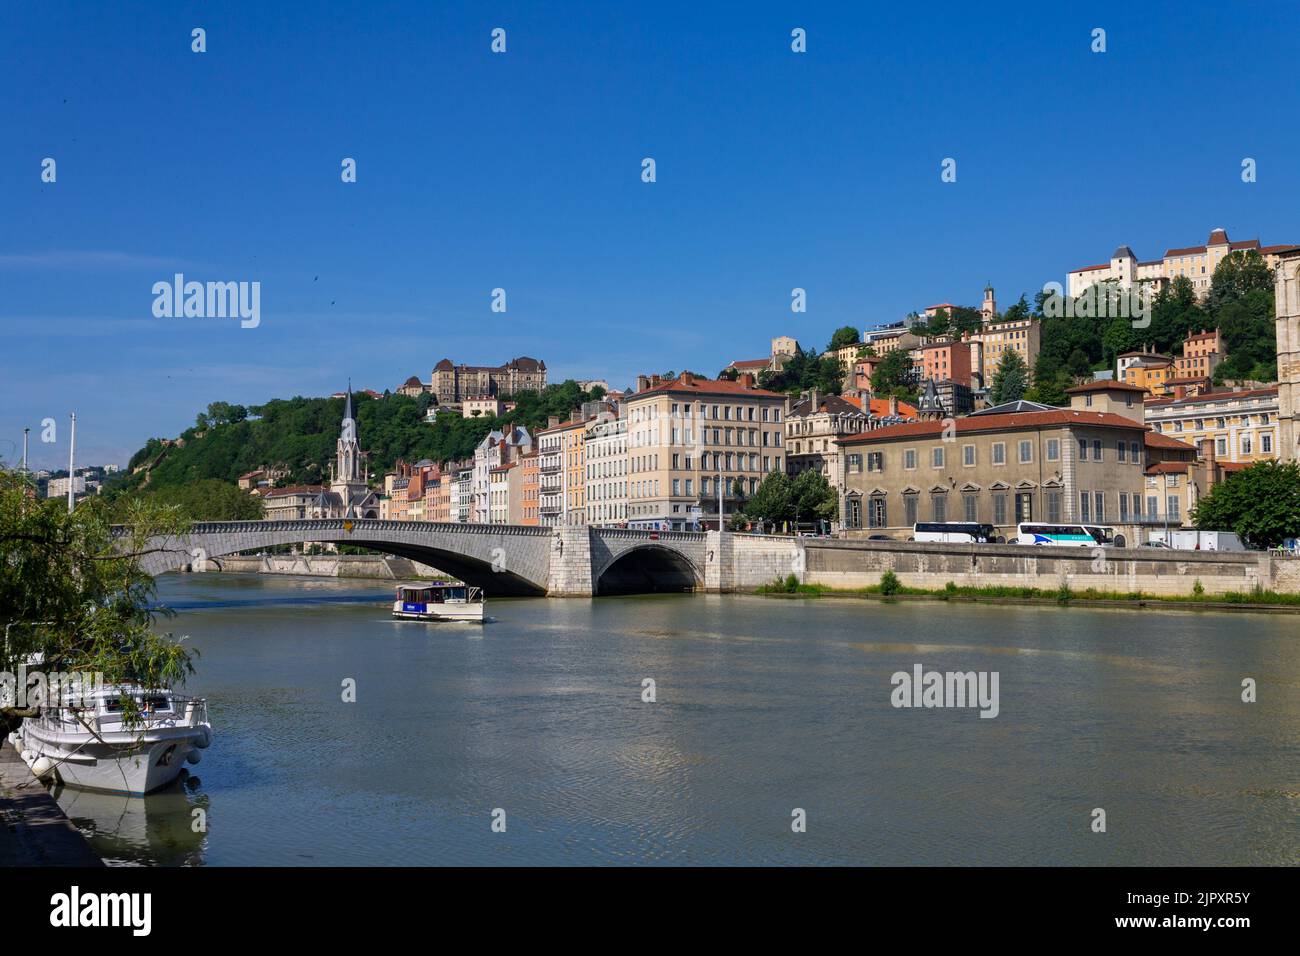
[[[1202,531],[1232,531],[1253,548],[1300,537],[1300,464],[1256,462],[1228,475],[1192,509]]]

